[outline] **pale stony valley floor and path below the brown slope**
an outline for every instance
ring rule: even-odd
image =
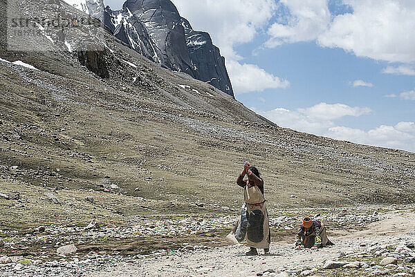
[[[131,227],[94,221],[84,227],[1,231],[0,272],[2,276],[414,274],[413,208],[322,210],[314,217],[327,225],[335,246],[318,251],[293,249],[293,228],[301,221],[293,212],[277,216],[270,211],[271,254],[253,258],[243,256],[246,247],[225,239],[237,216],[142,218],[140,225]]]

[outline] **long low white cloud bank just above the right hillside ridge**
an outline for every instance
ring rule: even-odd
[[[327,116],[322,116],[324,110],[328,113]],[[335,120],[340,117],[345,115],[358,117],[369,113],[369,110],[369,108],[350,107],[344,104],[321,103],[296,111],[275,108],[272,111],[257,111],[257,113],[279,126],[296,131],[331,137],[336,140],[415,152],[414,122],[399,122],[395,126],[381,125],[369,131],[335,124]]]

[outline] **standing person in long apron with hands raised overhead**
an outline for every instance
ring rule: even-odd
[[[245,175],[248,175],[248,179],[243,180]],[[245,202],[241,207],[241,218],[232,233],[238,242],[250,247],[246,255],[258,255],[257,248],[264,249],[264,254],[268,254],[271,236],[264,198],[264,180],[258,169],[246,162],[237,178],[237,184],[243,187]]]

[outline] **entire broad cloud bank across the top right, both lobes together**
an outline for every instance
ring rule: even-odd
[[[415,61],[415,1],[343,0],[352,13],[331,15],[328,1],[282,0],[291,12],[288,23],[268,30],[265,46],[316,40],[320,46],[343,48],[358,57],[409,63]],[[387,68],[412,73],[405,67]]]

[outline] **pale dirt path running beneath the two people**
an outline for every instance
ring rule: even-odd
[[[92,276],[256,276],[266,269],[293,270],[299,266],[317,265],[338,258],[340,252],[364,251],[368,247],[389,244],[405,238],[414,229],[415,213],[389,213],[387,219],[372,223],[364,231],[348,233],[334,239],[335,246],[318,251],[297,251],[292,245],[274,242],[270,256],[244,256],[247,247],[231,246],[193,251],[176,256],[139,260],[135,264],[111,265]]]

